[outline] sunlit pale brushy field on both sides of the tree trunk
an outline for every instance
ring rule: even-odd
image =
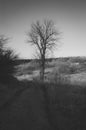
[[[36,60],[17,66],[18,80],[38,80],[39,62]],[[45,81],[71,84],[86,84],[86,57],[48,59],[45,67]]]

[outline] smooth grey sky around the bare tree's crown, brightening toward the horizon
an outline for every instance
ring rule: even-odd
[[[55,57],[86,56],[85,0],[0,0],[0,35],[11,37],[9,46],[21,57],[33,58],[26,33],[32,22],[45,18],[63,32]]]

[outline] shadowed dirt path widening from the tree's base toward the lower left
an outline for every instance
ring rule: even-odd
[[[24,90],[0,112],[0,130],[50,130],[43,92]]]

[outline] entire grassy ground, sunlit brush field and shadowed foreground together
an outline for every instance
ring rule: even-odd
[[[50,61],[44,83],[34,79],[38,64],[18,65],[17,78],[24,77],[0,83],[0,130],[86,130],[86,68],[80,61]]]

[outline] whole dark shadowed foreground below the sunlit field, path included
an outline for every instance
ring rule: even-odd
[[[85,130],[86,87],[0,83],[0,130]]]

